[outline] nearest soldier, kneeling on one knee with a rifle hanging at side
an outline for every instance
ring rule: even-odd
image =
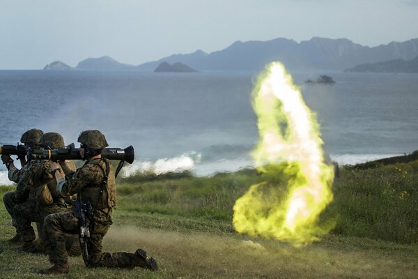
[[[83,253],[84,263],[87,267],[118,267],[133,268],[140,266],[152,271],[157,270],[157,263],[146,252],[138,249],[130,252],[102,252],[102,239],[107,233],[112,220],[112,208],[116,204],[115,174],[109,160],[102,158],[101,151],[108,146],[102,133],[98,130],[86,130],[79,135],[81,146],[79,153],[86,160],[83,167],[77,172],[70,173],[64,163],[60,163],[65,173],[65,179],[59,165],[53,163],[57,189],[62,195],[79,194],[81,204],[91,204],[92,214],[86,220],[90,237],[86,239],[88,255]],[[64,233],[79,233],[79,218],[75,213],[55,213],[45,219],[45,232],[47,234],[47,252],[49,261],[53,266],[41,270],[42,274],[68,273],[67,252],[64,248]]]

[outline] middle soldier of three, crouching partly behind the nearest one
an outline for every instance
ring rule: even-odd
[[[64,148],[64,140],[58,133],[46,133],[39,140],[44,149]],[[71,206],[56,192],[56,181],[52,172],[50,160],[31,160],[25,172],[17,183],[15,191],[15,206],[13,214],[17,223],[17,229],[24,241],[22,249],[26,252],[43,252],[45,245],[44,220],[51,213],[71,210]],[[75,169],[74,163],[67,161],[70,169]],[[32,222],[40,223],[40,244],[34,242],[35,232]],[[68,249],[74,255],[79,255],[79,245],[72,238]],[[78,249],[78,251],[77,251]]]

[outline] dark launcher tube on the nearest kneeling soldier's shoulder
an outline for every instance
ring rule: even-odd
[[[82,160],[78,149],[70,144],[63,149],[29,149],[28,160]],[[127,146],[125,149],[106,148],[102,150],[102,158],[109,160],[121,160],[132,164],[134,162],[134,147]]]

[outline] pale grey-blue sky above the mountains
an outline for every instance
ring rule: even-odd
[[[0,69],[109,55],[139,65],[236,40],[418,38],[418,0],[0,0]]]

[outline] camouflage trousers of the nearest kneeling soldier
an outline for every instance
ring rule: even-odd
[[[87,225],[90,222],[87,221]],[[93,229],[87,239],[88,267],[133,267],[134,256],[129,252],[102,252],[102,239],[111,225],[109,213],[96,210],[93,219]],[[45,219],[45,232],[47,235],[47,252],[52,264],[62,265],[68,263],[65,250],[64,234],[78,234],[79,220],[72,212],[54,213]]]

